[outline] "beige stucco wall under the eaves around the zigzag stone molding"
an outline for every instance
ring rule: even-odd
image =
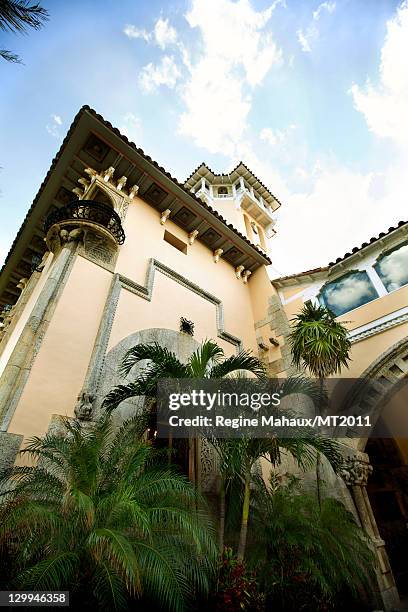
[[[220,299],[226,331],[241,338],[246,348],[256,349],[250,289],[252,279],[245,285],[236,278],[231,264],[223,259],[214,263],[212,251],[199,241],[188,245],[187,232],[171,220],[165,226],[161,225],[159,213],[139,199],[129,206],[124,229],[127,240],[120,250],[117,272],[145,285],[149,260],[152,257],[157,259]],[[165,230],[187,245],[187,255],[163,239]],[[198,340],[206,337],[217,339],[215,306],[156,272],[151,302],[122,292],[109,347],[145,327],[178,329],[181,316],[195,322]],[[228,352],[234,350],[229,343],[223,344],[220,340],[220,344]]]

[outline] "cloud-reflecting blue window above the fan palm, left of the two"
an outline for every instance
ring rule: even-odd
[[[323,285],[319,301],[338,317],[377,297],[367,272],[352,271]]]

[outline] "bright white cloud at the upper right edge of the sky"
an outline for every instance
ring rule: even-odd
[[[408,148],[408,2],[402,2],[396,15],[387,23],[387,34],[381,51],[376,87],[370,81],[365,87],[354,84],[354,105],[368,128],[380,138],[390,138]]]

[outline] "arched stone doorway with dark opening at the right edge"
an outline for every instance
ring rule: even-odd
[[[372,428],[358,439],[367,477],[353,499],[373,538],[383,605],[393,609],[389,594],[398,589],[401,598],[408,596],[408,338],[363,372],[354,395],[352,405],[370,415]]]

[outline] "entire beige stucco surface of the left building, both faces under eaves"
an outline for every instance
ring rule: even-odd
[[[146,284],[150,258],[155,258],[221,300],[224,328],[242,340],[245,348],[257,352],[254,312],[265,316],[267,293],[271,286],[266,272],[248,284],[238,280],[232,265],[214,263],[210,249],[200,242],[181,253],[164,239],[167,230],[185,243],[187,233],[167,221],[160,224],[159,213],[140,199],[129,206],[124,223],[126,242],[120,248],[115,272],[140,285]],[[257,280],[255,280],[257,277]],[[41,279],[36,296],[45,282]],[[42,435],[51,415],[72,415],[81,391],[98,332],[112,272],[77,255],[73,268],[31,368],[9,432],[25,437]],[[262,289],[255,299],[253,287]],[[258,299],[259,298],[259,299]],[[33,295],[32,300],[35,301]],[[215,339],[231,354],[236,347],[217,337],[216,306],[174,279],[156,270],[151,301],[122,288],[115,312],[108,350],[126,336],[152,327],[178,330],[180,317],[195,323],[195,337]],[[26,320],[25,316],[25,320]],[[19,328],[22,328],[23,321]]]

